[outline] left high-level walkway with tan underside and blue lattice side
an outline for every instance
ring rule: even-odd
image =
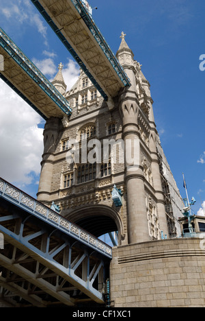
[[[63,118],[65,115],[71,115],[72,109],[67,100],[1,27],[0,55],[3,56],[0,78],[45,120],[50,117]]]

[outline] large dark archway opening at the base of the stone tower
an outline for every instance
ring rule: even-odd
[[[95,237],[118,230],[119,245],[121,243],[121,236],[124,235],[124,227],[120,214],[109,206],[99,204],[85,206],[72,211],[69,215],[66,215],[66,218]]]

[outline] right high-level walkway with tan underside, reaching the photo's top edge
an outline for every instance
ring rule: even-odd
[[[102,97],[112,102],[131,86],[83,0],[31,0]]]

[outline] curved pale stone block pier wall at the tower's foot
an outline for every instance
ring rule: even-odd
[[[114,307],[205,307],[200,239],[167,239],[113,248]]]

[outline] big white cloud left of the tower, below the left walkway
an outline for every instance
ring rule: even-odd
[[[0,176],[18,183],[18,187],[33,183],[33,174],[40,174],[43,129],[38,128],[38,124],[41,121],[41,117],[0,80]]]

